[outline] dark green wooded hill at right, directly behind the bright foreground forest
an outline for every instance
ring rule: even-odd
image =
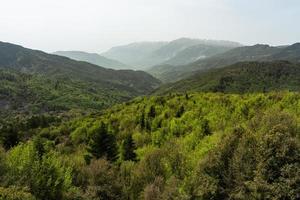
[[[278,90],[300,91],[300,64],[288,61],[241,62],[166,84],[155,93],[248,93]]]

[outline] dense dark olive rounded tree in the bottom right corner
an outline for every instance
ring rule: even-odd
[[[252,196],[260,199],[298,199],[300,144],[291,124],[278,124],[259,138]]]

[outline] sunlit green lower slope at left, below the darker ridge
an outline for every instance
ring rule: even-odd
[[[137,94],[120,88],[46,75],[0,70],[0,116],[99,111]],[[0,122],[1,125],[1,122]]]

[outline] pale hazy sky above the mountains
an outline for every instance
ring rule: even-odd
[[[102,52],[179,37],[300,42],[300,0],[0,0],[0,41]]]

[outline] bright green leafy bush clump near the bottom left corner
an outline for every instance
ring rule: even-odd
[[[71,182],[70,168],[65,168],[56,153],[42,157],[33,143],[20,144],[7,156],[7,184],[27,186],[37,199],[59,199]]]

